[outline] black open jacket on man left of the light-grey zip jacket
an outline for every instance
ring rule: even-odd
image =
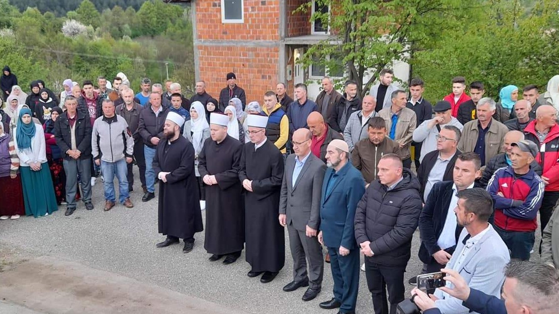
[[[91,158],[91,122],[89,115],[82,112],[76,113],[75,121],[75,145],[82,152],[79,159]],[[63,112],[54,123],[54,138],[56,145],[60,148],[64,159],[72,160],[72,157],[66,154],[66,151],[72,149],[72,133],[70,130],[70,122],[68,121],[68,113]]]

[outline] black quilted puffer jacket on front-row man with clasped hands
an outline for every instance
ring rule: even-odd
[[[371,182],[355,213],[358,244],[371,241],[373,263],[405,266],[411,257],[411,237],[421,212],[419,182],[409,169],[394,189]]]

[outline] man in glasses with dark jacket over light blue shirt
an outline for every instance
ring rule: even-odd
[[[461,154],[457,149],[460,137],[460,130],[452,125],[444,126],[439,134],[435,135],[437,150],[425,155],[418,169],[421,185],[419,192],[424,203],[427,202],[427,196],[435,183],[452,180],[454,163]]]

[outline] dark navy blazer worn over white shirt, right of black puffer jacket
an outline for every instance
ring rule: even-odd
[[[433,185],[430,195],[423,206],[421,215],[419,216],[419,234],[421,235],[421,245],[419,246],[419,259],[425,264],[432,263],[434,260],[433,254],[440,251],[437,245],[440,233],[443,231],[444,222],[447,219],[449,211],[449,204],[452,199],[452,185],[454,182],[450,181],[437,182]],[[450,210],[454,210],[451,208]],[[461,226],[456,226],[454,231],[454,239],[458,242],[458,236],[462,232]],[[451,248],[445,249],[448,254],[454,253],[456,245]]]

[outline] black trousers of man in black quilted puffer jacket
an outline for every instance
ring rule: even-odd
[[[373,298],[375,314],[395,314],[398,303],[404,301],[404,266],[385,266],[365,257],[367,287]],[[388,301],[386,292],[388,291]],[[390,302],[390,311],[388,307]]]

